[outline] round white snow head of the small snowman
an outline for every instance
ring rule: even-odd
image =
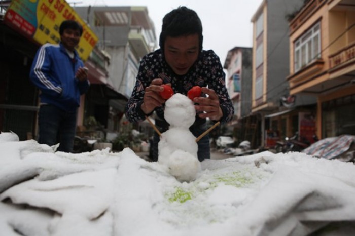
[[[170,127],[190,128],[195,122],[194,103],[187,96],[176,93],[165,103],[164,118]]]

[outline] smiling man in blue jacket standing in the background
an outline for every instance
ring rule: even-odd
[[[59,27],[60,44],[45,44],[34,57],[30,80],[40,93],[39,143],[59,144],[58,151],[71,152],[80,95],[89,88],[87,69],[75,47],[83,33],[73,20]]]

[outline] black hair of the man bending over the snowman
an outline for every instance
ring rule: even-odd
[[[163,18],[163,25],[159,37],[159,46],[164,54],[164,43],[167,36],[179,37],[191,34],[198,34],[199,51],[202,50],[202,23],[197,13],[187,7],[179,7]]]

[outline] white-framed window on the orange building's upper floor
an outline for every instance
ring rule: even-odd
[[[317,58],[321,58],[321,27],[316,23],[295,43],[295,72]]]

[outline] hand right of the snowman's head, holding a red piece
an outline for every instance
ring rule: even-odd
[[[208,96],[196,97],[193,100],[195,103],[198,103],[198,105],[195,105],[195,109],[197,111],[201,111],[198,116],[200,118],[209,118],[213,121],[221,120],[223,111],[221,109],[220,100],[216,92],[212,89],[202,87],[202,93],[205,93]]]

